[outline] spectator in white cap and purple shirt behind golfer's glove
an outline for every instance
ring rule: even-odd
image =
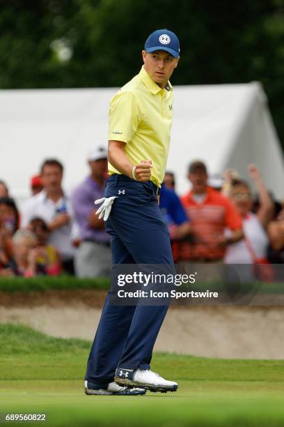
[[[94,200],[103,195],[107,174],[107,151],[95,147],[88,151],[90,175],[74,190],[72,205],[74,220],[79,227],[81,244],[75,255],[75,271],[79,277],[109,274],[111,268],[110,237],[104,220],[95,215]]]

